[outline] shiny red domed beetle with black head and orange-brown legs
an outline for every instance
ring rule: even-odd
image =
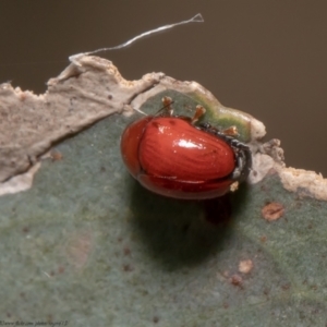
[[[174,198],[218,197],[251,169],[250,148],[210,124],[193,123],[205,109],[197,106],[193,119],[173,116],[171,99],[165,110],[132,124],[121,137],[121,153],[130,173],[146,189]]]

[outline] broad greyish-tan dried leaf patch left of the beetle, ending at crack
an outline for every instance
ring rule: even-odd
[[[1,84],[0,183],[29,171],[56,141],[104,117],[130,110],[131,100],[162,77],[162,73],[152,73],[140,81],[125,81],[110,61],[82,56],[51,78],[43,95]],[[8,192],[13,190],[9,186]]]

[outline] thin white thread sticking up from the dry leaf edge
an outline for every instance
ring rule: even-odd
[[[97,49],[97,50],[94,50],[94,51],[82,52],[82,53],[70,56],[70,61],[74,62],[75,59],[77,59],[81,56],[89,56],[89,55],[95,55],[95,53],[98,53],[98,52],[105,52],[105,51],[111,51],[111,50],[122,49],[122,48],[125,48],[125,47],[130,46],[131,44],[133,44],[134,41],[136,41],[140,38],[143,38],[145,36],[149,36],[152,34],[155,34],[155,33],[158,33],[158,32],[162,32],[162,31],[166,31],[166,29],[179,26],[179,25],[189,24],[189,23],[203,23],[203,22],[204,22],[204,19],[202,16],[202,14],[198,13],[198,14],[196,14],[194,17],[192,17],[190,20],[182,21],[182,22],[174,23],[174,24],[164,25],[164,26],[160,26],[160,27],[157,27],[157,28],[144,32],[142,34],[138,34],[137,36],[135,36],[135,37],[129,39],[128,41],[125,41],[125,43],[123,43],[123,44],[121,44],[119,46],[116,46],[116,47],[100,48],[100,49]]]

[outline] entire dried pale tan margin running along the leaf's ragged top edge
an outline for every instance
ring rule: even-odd
[[[250,183],[277,172],[283,186],[303,196],[327,199],[327,180],[313,171],[286,168],[278,140],[262,143],[265,125],[252,116],[223,107],[196,82],[180,82],[162,73],[138,81],[124,80],[108,60],[75,56],[72,63],[48,82],[43,95],[0,85],[0,195],[27,190],[40,158],[62,137],[116,112],[131,114],[149,98],[166,89],[203,95],[219,110],[233,110],[250,121],[253,169]]]

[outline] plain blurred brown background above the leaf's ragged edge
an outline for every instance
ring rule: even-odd
[[[196,81],[225,106],[262,120],[288,166],[327,177],[327,1],[1,1],[0,83],[35,93],[77,52],[145,31],[190,24],[100,53],[125,78],[165,72]]]

